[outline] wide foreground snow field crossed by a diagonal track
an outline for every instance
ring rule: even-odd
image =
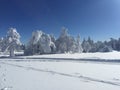
[[[120,90],[119,69],[115,63],[0,60],[0,90]]]

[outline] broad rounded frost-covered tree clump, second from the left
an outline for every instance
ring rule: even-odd
[[[53,53],[56,50],[54,42],[52,42],[50,35],[42,31],[35,31],[32,33],[28,45],[25,49],[26,55]]]

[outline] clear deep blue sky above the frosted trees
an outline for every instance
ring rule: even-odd
[[[32,31],[56,37],[65,26],[93,40],[120,37],[120,0],[0,0],[0,37],[14,27],[25,42]]]

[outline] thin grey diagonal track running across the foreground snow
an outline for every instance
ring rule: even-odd
[[[26,66],[6,63],[6,62],[0,62],[0,63],[10,65],[10,66],[14,66],[14,67],[24,68],[24,69],[27,69],[27,70],[46,72],[46,73],[51,73],[51,74],[67,76],[67,77],[74,77],[74,78],[89,80],[89,81],[93,81],[93,82],[99,82],[99,83],[104,83],[104,84],[109,84],[109,85],[120,86],[120,83],[115,83],[115,82],[111,82],[111,81],[105,81],[105,80],[101,80],[101,79],[91,78],[91,77],[87,77],[87,76],[83,76],[83,75],[80,75],[80,76],[72,75],[72,74],[67,74],[67,73],[62,73],[62,72],[57,72],[57,71],[52,71],[52,70],[44,70],[44,69],[38,69],[38,68],[34,68],[34,67],[26,67]]]

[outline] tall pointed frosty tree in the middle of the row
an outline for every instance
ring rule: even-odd
[[[56,47],[58,53],[65,52],[81,52],[79,51],[79,44],[74,37],[70,36],[67,32],[67,28],[63,27],[60,37],[56,40]],[[78,49],[79,48],[79,49]]]

